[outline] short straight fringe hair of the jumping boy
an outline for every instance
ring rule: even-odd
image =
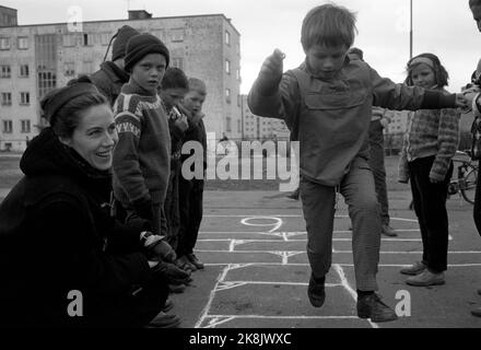
[[[354,12],[327,3],[312,9],[306,14],[301,30],[301,43],[304,50],[314,45],[345,45],[349,48],[354,43],[356,32]]]

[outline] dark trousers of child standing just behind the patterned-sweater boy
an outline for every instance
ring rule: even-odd
[[[180,229],[180,213],[179,213],[179,198],[178,198],[178,183],[180,174],[179,160],[173,159],[171,161],[171,177],[168,178],[167,194],[164,201],[165,215],[165,235],[167,243],[174,248],[177,248],[178,232]]]

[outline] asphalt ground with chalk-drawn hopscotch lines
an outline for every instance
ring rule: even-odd
[[[378,272],[383,301],[400,311],[397,322],[356,316],[355,280],[347,206],[335,220],[332,267],[326,304],[307,299],[309,266],[301,203],[275,191],[207,191],[196,254],[206,264],[193,282],[173,294],[173,313],[187,328],[438,328],[481,327],[470,310],[481,305],[481,238],[472,206],[448,200],[449,255],[446,284],[404,283],[403,266],[419,260],[422,243],[409,191],[389,192],[397,237],[382,237]]]

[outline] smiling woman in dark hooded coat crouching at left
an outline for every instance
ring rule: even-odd
[[[145,326],[167,285],[142,252],[149,223],[110,215],[110,106],[77,82],[42,107],[50,127],[30,143],[25,176],[0,206],[0,326]]]

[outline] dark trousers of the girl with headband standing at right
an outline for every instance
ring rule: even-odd
[[[448,218],[447,187],[453,175],[450,164],[443,183],[432,184],[430,172],[434,155],[409,162],[414,211],[423,241],[423,262],[435,273],[447,269]]]

